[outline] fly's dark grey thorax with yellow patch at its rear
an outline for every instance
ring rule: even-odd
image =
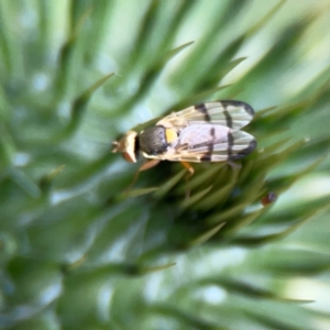
[[[147,155],[160,155],[177,139],[177,132],[163,125],[147,128],[139,135],[140,150]]]

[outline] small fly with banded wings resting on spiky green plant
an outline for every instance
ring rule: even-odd
[[[256,147],[256,140],[241,131],[254,117],[254,110],[241,101],[206,102],[173,112],[144,131],[129,131],[113,142],[131,163],[139,155],[152,160],[140,170],[161,161],[182,162],[193,174],[189,163],[226,162],[245,157]],[[140,172],[139,170],[139,172]]]

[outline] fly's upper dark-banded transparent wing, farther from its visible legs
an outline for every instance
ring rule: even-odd
[[[156,124],[180,130],[189,125],[216,124],[233,130],[245,127],[254,110],[241,101],[218,101],[200,103],[163,118]]]

